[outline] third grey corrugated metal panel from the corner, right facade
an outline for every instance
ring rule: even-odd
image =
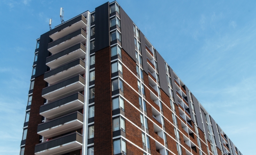
[[[163,59],[163,57],[157,51],[156,51],[156,57],[157,57],[157,66],[158,66],[158,74],[159,74],[160,86],[163,89],[163,91],[168,96],[170,96],[169,89],[168,89],[168,81],[167,81],[167,78],[166,78],[167,74],[166,74],[166,71],[165,71],[164,59]]]

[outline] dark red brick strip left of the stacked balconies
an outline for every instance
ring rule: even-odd
[[[34,155],[35,145],[39,143],[37,126],[42,123],[42,116],[39,115],[39,109],[44,104],[42,89],[45,87],[45,84],[44,75],[35,78],[24,155]]]

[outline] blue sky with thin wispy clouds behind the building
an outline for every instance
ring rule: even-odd
[[[0,1],[0,154],[18,154],[36,39],[102,0]],[[118,3],[244,155],[255,144],[256,1]]]

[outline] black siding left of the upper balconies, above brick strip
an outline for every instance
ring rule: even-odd
[[[49,37],[49,32],[40,36],[40,45],[38,51],[38,58],[36,63],[36,74],[35,77],[43,75],[47,71],[47,66],[45,65],[46,58],[49,56],[48,44],[51,38]]]

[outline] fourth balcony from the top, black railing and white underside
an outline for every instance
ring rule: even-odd
[[[56,84],[70,77],[74,77],[76,75],[82,75],[84,73],[85,73],[85,62],[79,58],[59,68],[45,72],[44,80],[50,84]]]

